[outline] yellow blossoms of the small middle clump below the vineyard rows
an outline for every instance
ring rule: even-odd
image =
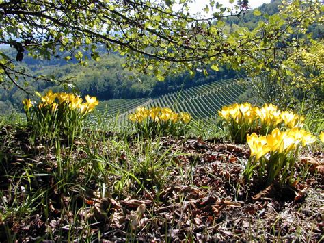
[[[146,119],[151,119],[158,123],[172,121],[172,123],[183,122],[187,124],[191,120],[191,116],[187,112],[176,113],[166,107],[152,107],[151,109],[139,107],[135,114],[129,115],[129,119],[137,123],[141,123]]]

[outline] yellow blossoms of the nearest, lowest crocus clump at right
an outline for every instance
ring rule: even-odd
[[[316,137],[298,127],[294,127],[289,131],[280,131],[278,128],[274,129],[271,134],[267,136],[258,136],[256,133],[247,135],[247,144],[251,149],[251,156],[255,155],[255,159],[267,153],[278,151],[278,153],[288,153],[295,149],[300,143],[302,146],[311,144],[316,141]]]

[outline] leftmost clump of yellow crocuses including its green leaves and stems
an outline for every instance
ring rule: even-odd
[[[24,99],[27,123],[31,126],[34,140],[72,142],[82,133],[85,116],[98,105],[96,97],[87,95],[85,99],[83,103],[82,98],[75,94],[53,93],[51,90],[40,96],[41,101],[36,105],[30,99]]]

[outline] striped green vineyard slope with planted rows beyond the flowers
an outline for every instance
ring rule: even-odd
[[[211,118],[224,105],[237,101],[245,86],[235,79],[223,79],[165,94],[155,99],[113,99],[100,101],[98,112],[124,120],[137,107],[170,107],[176,112],[189,112],[195,119]]]

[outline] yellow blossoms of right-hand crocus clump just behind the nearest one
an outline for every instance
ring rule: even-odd
[[[253,107],[250,103],[233,104],[225,106],[218,112],[219,116],[226,121],[234,121],[237,124],[248,124],[260,120],[260,126],[275,127],[284,123],[288,128],[301,127],[304,118],[293,112],[280,111],[272,104],[265,104],[263,107]]]

